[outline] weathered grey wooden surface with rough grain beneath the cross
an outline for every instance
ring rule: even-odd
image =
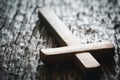
[[[120,79],[119,0],[0,0],[0,80],[80,80],[71,64],[44,65],[41,48],[57,44],[38,21],[40,7],[52,8],[81,43],[111,40],[114,63],[103,65],[101,80]]]

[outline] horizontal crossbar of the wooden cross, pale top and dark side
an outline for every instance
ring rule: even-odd
[[[97,47],[96,47],[97,46]],[[73,45],[59,48],[41,49],[40,58],[43,62],[62,62],[70,59],[76,53],[90,52],[96,59],[114,56],[114,46],[110,42],[98,42]],[[70,57],[70,58],[69,58]]]

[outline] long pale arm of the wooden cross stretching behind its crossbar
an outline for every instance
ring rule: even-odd
[[[67,46],[80,44],[79,38],[68,30],[65,24],[49,7],[41,8],[38,15],[41,23],[45,25],[46,29],[54,36],[54,39],[59,45]]]

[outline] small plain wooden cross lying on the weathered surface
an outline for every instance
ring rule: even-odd
[[[40,59],[46,64],[74,60],[77,66],[86,73],[100,68],[100,63],[95,58],[114,55],[114,47],[110,42],[81,44],[80,40],[48,7],[39,10],[39,18],[58,44],[64,46],[41,49]]]

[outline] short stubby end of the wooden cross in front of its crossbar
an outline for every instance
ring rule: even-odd
[[[75,54],[74,63],[84,74],[100,70],[100,64],[89,52]]]

